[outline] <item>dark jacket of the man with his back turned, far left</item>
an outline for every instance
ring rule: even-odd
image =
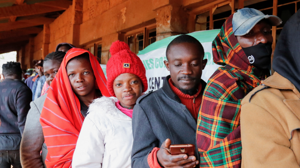
[[[5,79],[0,83],[0,150],[20,149],[32,91],[21,80]]]

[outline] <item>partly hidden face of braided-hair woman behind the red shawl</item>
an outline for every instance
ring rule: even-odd
[[[60,67],[60,62],[56,60],[48,60],[44,62],[44,75],[46,77],[46,83],[50,86],[52,80],[54,79],[55,75],[58,72]]]

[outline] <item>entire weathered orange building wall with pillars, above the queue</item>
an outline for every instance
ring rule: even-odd
[[[73,0],[54,22],[44,25],[32,45],[24,47],[23,62],[29,68],[32,59],[44,58],[61,42],[79,48],[101,42],[101,63],[106,64],[111,43],[125,41],[127,32],[156,23],[157,40],[188,33],[187,11],[212,1],[216,0]]]

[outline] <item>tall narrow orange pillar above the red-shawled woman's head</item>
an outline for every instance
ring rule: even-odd
[[[70,32],[72,32],[72,44],[79,47],[80,24],[82,24],[83,0],[73,0],[73,16]]]

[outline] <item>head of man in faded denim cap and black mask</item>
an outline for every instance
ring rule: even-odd
[[[232,31],[254,67],[271,68],[271,26],[278,26],[281,22],[277,16],[265,15],[252,8],[243,8],[233,14]]]

